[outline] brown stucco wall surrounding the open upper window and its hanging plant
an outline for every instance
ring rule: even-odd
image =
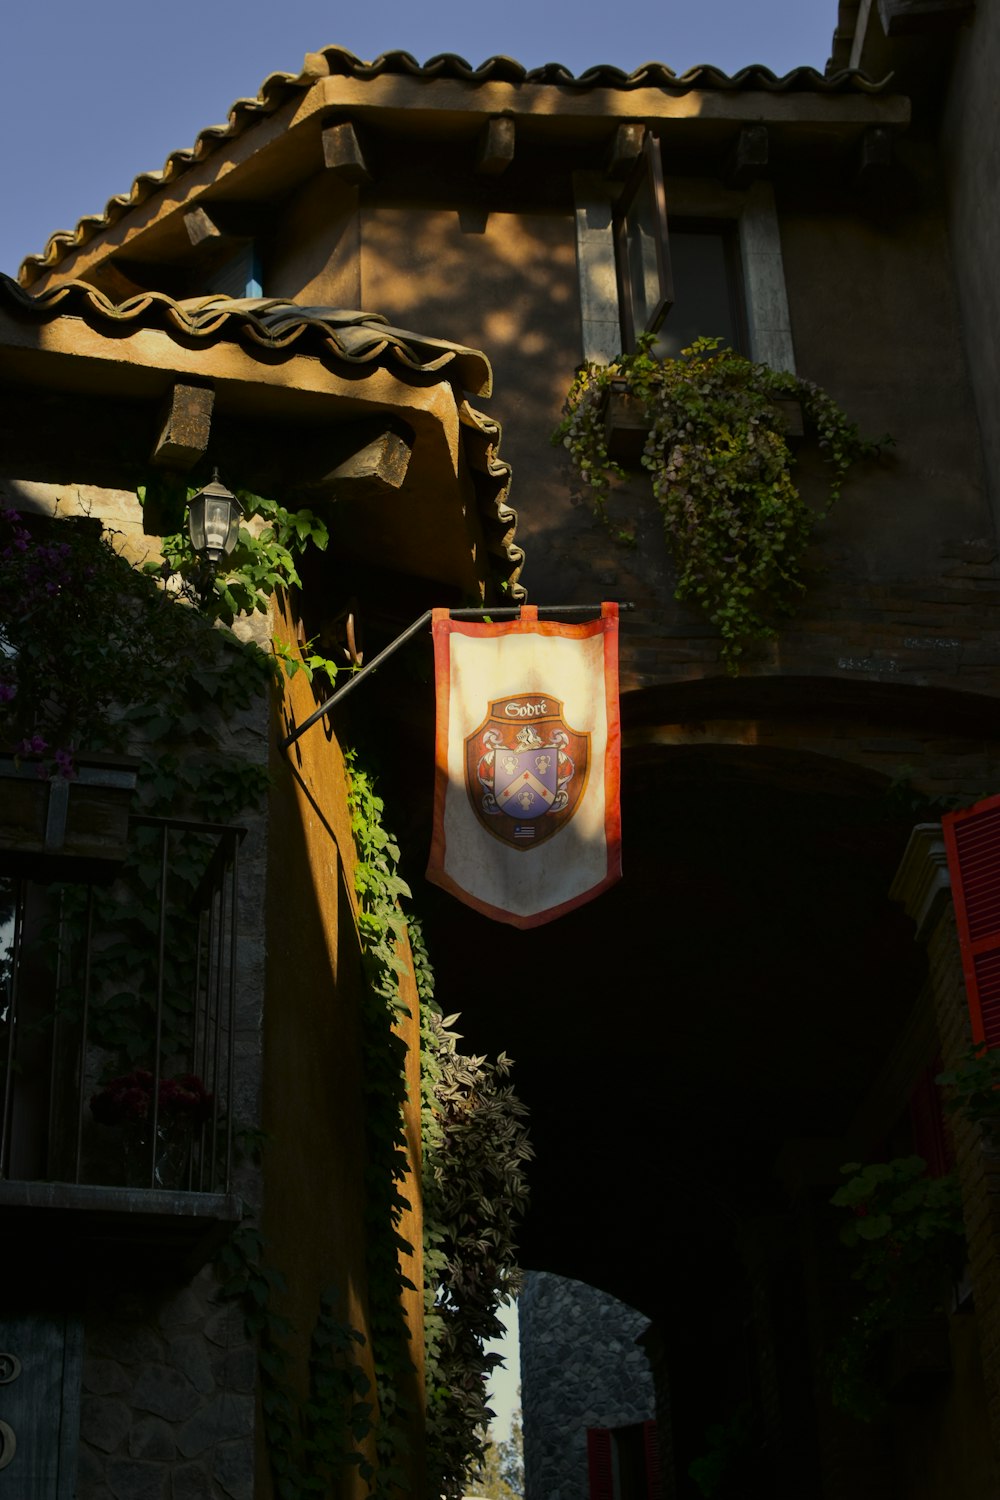
[[[798,370],[826,387],[862,432],[889,434],[816,531],[808,590],[757,672],[948,682],[994,692],[1000,573],[978,424],[958,327],[943,184],[925,146],[900,146],[891,213],[831,177],[778,189]],[[514,470],[511,500],[537,603],[633,600],[622,632],[625,687],[714,675],[717,640],[673,600],[675,568],[642,476],[610,514],[636,526],[622,548],[594,519],[550,434],[580,360],[574,224],[543,213],[379,201],[361,208],[361,297],[394,322],[484,348],[490,410]],[[817,508],[820,454],[799,477]]]

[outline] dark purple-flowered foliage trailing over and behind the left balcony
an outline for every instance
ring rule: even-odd
[[[136,810],[204,822],[259,807],[267,771],[247,762],[229,726],[267,686],[253,645],[211,628],[175,594],[138,573],[94,522],[27,524],[0,512],[0,742],[39,776],[72,780],[81,752],[135,756]],[[157,974],[159,840],[135,828],[114,886],[96,890],[90,1036],[111,1072],[148,1060]],[[189,910],[214,842],[190,837],[169,868],[171,942],[163,954],[163,1046],[189,1030],[196,916]],[[66,940],[82,934],[87,894],[66,886]],[[72,1012],[75,966],[60,1006]]]

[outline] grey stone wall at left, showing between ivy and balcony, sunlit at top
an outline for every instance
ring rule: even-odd
[[[7,480],[0,504],[100,518],[135,566],[159,558],[133,494]],[[267,645],[262,616],[238,633]],[[234,716],[222,740],[223,753],[267,765],[267,693]],[[231,1108],[249,1125],[259,1120],[261,1098],[267,824],[256,812],[241,820]],[[259,1206],[258,1168],[238,1156],[234,1191]],[[219,1300],[210,1264],[189,1284],[163,1288],[142,1276],[141,1250],[135,1262],[127,1276],[91,1272],[75,1299],[82,1323],[76,1500],[253,1500],[256,1354],[243,1316]]]

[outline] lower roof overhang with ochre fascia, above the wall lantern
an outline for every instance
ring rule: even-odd
[[[523,556],[499,429],[447,378],[403,375],[375,358],[334,368],[298,345],[243,348],[225,320],[193,342],[178,328],[111,316],[99,294],[76,302],[73,314],[46,315],[0,278],[7,482],[25,464],[51,466],[72,453],[75,482],[87,483],[109,432],[121,472],[135,476],[163,462],[157,435],[175,392],[210,390],[210,458],[228,472],[241,468],[250,488],[271,484],[322,512],[352,556],[463,598],[493,597],[499,582],[519,596]],[[370,459],[379,432],[397,447],[382,474]]]

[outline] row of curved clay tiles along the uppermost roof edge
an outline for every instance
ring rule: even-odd
[[[255,99],[237,99],[229,108],[225,124],[210,124],[199,132],[193,147],[171,152],[162,171],[139,172],[127,194],[108,200],[103,213],[87,214],[75,230],[57,230],[40,255],[27,255],[21,262],[18,278],[30,285],[46,268],[58,266],[64,255],[85,244],[94,234],[115,224],[129,208],[144,202],[163,183],[174,182],[193,162],[204,160],[222,142],[240,135],[264,114],[273,114],[297,92],[310,88],[318,78],[379,78],[382,74],[433,80],[453,78],[465,82],[511,82],[511,84],[558,84],[573,90],[618,88],[664,88],[667,93],[684,94],[696,88],[724,92],[765,90],[768,93],[879,93],[889,80],[879,82],[852,69],[820,74],[814,68],[795,68],[778,78],[769,68],[753,64],[736,74],[724,74],[718,68],[699,64],[685,74],[675,74],[666,63],[643,63],[627,74],[607,64],[588,68],[579,76],[562,63],[544,63],[528,69],[511,57],[487,57],[472,68],[456,52],[441,52],[426,63],[418,63],[411,52],[382,52],[375,62],[366,63],[342,46],[325,46],[306,57],[300,74],[268,74]]]

